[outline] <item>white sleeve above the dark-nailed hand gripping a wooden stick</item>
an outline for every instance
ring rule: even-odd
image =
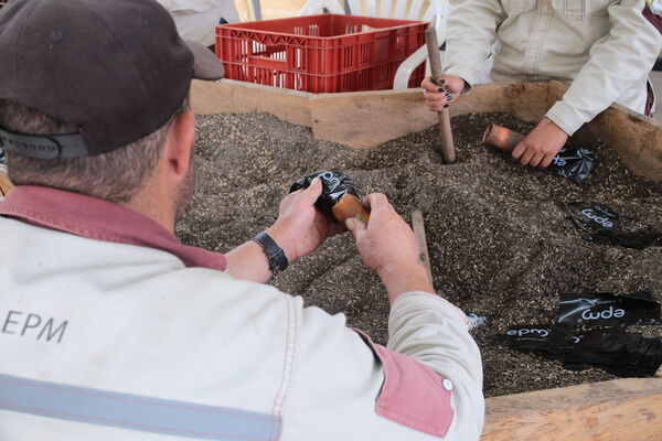
[[[504,19],[500,0],[450,0],[444,73],[473,86]]]

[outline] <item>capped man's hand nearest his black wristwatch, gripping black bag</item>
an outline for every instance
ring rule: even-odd
[[[322,182],[316,178],[306,190],[288,194],[280,202],[278,219],[266,233],[282,248],[289,261],[303,257],[319,247],[327,237],[344,230],[314,207],[322,193]]]

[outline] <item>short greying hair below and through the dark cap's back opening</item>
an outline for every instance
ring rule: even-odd
[[[9,179],[14,185],[51,186],[114,203],[126,203],[143,187],[153,173],[172,121],[188,108],[186,97],[181,109],[163,127],[107,153],[42,160],[8,151]],[[79,131],[75,125],[8,99],[0,99],[0,127],[29,135],[64,135]]]

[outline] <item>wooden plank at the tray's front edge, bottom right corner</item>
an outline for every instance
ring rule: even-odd
[[[487,400],[481,441],[660,441],[662,380],[624,378]]]

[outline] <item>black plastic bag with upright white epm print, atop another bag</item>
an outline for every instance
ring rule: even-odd
[[[563,294],[558,302],[558,323],[588,326],[656,324],[661,323],[660,303],[653,300],[649,290],[628,295]]]

